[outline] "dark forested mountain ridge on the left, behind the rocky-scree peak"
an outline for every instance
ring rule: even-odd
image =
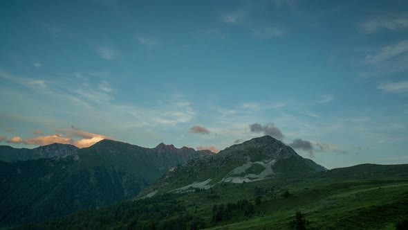
[[[82,149],[62,144],[33,150],[2,146],[0,155],[7,162],[0,161],[0,227],[127,200],[169,168],[210,154],[163,143],[142,148],[110,140]]]

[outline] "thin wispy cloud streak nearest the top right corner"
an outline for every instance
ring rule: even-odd
[[[378,33],[380,30],[403,30],[408,28],[408,17],[369,19],[360,24],[364,33]]]

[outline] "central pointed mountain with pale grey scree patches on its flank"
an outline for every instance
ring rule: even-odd
[[[270,177],[303,177],[324,170],[272,136],[261,136],[178,166],[145,193],[191,191],[225,182],[255,182]]]

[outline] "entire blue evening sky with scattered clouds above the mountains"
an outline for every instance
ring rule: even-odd
[[[1,1],[0,144],[408,163],[405,1]]]

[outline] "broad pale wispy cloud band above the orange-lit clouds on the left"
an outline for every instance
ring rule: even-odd
[[[86,84],[82,79],[66,82],[62,79],[55,82],[48,82],[41,79],[19,78],[0,71],[0,79],[10,80],[18,85],[24,86],[33,91],[19,91],[24,98],[21,104],[31,100],[37,103],[34,109],[39,109],[46,105],[38,100],[38,96],[53,96],[56,101],[55,106],[64,105],[61,110],[64,114],[69,113],[80,121],[91,123],[106,123],[115,126],[118,130],[134,127],[165,127],[187,123],[196,117],[193,104],[183,95],[166,96],[163,100],[149,105],[138,105],[138,103],[124,103],[117,101],[111,95],[115,89],[106,82],[99,85]],[[33,94],[35,93],[35,94]],[[160,101],[160,102],[159,102]],[[70,109],[67,109],[70,108]],[[121,113],[118,114],[118,111]],[[54,116],[55,117],[55,116]],[[47,123],[39,118],[42,123]],[[44,121],[43,121],[44,120]]]

